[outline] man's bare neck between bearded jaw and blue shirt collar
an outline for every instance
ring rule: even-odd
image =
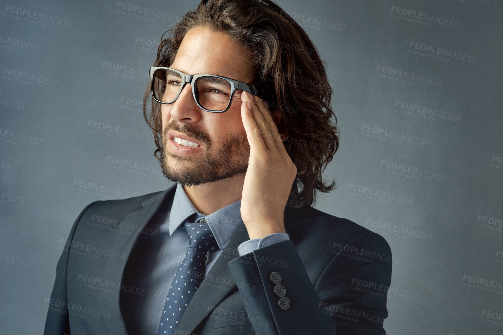
[[[244,174],[197,186],[184,186],[185,193],[196,209],[211,214],[241,198]]]

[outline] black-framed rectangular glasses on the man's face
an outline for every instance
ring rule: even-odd
[[[211,113],[223,113],[229,109],[236,89],[265,99],[258,86],[216,74],[186,74],[170,67],[150,68],[152,97],[160,103],[177,100],[186,83],[192,86],[192,95],[199,108]]]

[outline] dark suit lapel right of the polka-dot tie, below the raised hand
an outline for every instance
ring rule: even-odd
[[[212,308],[218,305],[236,287],[227,262],[239,257],[237,247],[247,240],[249,240],[248,232],[241,225],[194,294],[180,320],[177,330],[192,333],[199,323],[212,311]],[[217,276],[220,278],[218,284],[216,281]]]

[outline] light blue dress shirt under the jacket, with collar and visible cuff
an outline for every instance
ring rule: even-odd
[[[130,320],[132,328],[141,334],[155,335],[164,307],[164,300],[175,277],[178,266],[184,260],[189,239],[184,228],[186,222],[207,222],[215,236],[217,245],[210,250],[206,259],[206,273],[224,251],[232,235],[238,229],[246,229],[241,213],[241,199],[217,211],[204,215],[197,211],[183,186],[178,183],[171,211],[159,208],[153,217],[158,220],[158,236],[141,244],[141,263],[135,285],[144,289],[143,296],[134,301],[135,313]],[[144,237],[145,239],[147,237]],[[240,256],[256,249],[289,240],[288,234],[274,233],[262,239],[252,239],[241,243],[237,250]],[[135,297],[136,298],[136,297]]]

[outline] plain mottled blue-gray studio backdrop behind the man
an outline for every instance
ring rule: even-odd
[[[171,185],[153,158],[141,100],[154,42],[198,2],[123,3],[164,15],[145,20],[97,0],[1,7],[1,334],[42,333],[60,239],[83,207]],[[278,4],[304,25],[327,63],[341,128],[326,170],[339,188],[315,207],[391,246],[384,328],[501,334],[501,3]],[[114,74],[126,71],[132,76]],[[389,141],[390,132],[405,137]],[[90,192],[88,183],[120,192]]]

